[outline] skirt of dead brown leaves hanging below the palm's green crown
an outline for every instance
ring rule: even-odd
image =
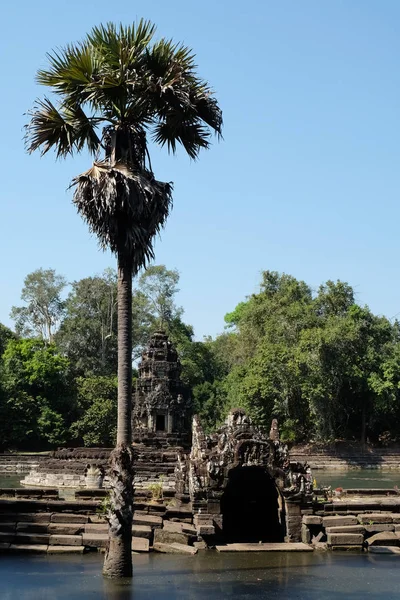
[[[136,273],[154,258],[153,239],[172,207],[172,185],[126,164],[95,162],[78,175],[73,202],[102,248],[133,260]]]

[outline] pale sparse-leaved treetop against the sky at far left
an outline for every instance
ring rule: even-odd
[[[16,332],[25,337],[40,337],[51,343],[62,319],[61,292],[67,282],[54,269],[37,269],[24,279],[21,299],[26,306],[13,306],[11,318]]]

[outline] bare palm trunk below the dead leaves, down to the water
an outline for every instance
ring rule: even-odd
[[[103,574],[132,577],[132,265],[118,256],[118,427],[111,453],[109,544]]]

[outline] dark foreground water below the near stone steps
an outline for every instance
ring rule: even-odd
[[[0,556],[1,600],[398,600],[400,558],[345,553],[135,555],[134,577],[105,581],[102,557]]]

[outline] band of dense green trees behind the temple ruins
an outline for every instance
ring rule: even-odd
[[[26,281],[48,297],[58,276],[31,275]],[[178,272],[163,265],[139,278],[133,361],[151,332],[165,329],[207,429],[243,406],[265,427],[277,417],[288,441],[400,437],[400,325],[356,304],[348,284],[328,281],[313,294],[303,281],[266,271],[259,292],[226,315],[225,332],[203,341],[182,320],[178,285]],[[62,318],[51,342],[46,329],[18,337],[0,325],[3,448],[114,443],[115,273],[72,283],[65,299],[62,289],[52,298]]]

